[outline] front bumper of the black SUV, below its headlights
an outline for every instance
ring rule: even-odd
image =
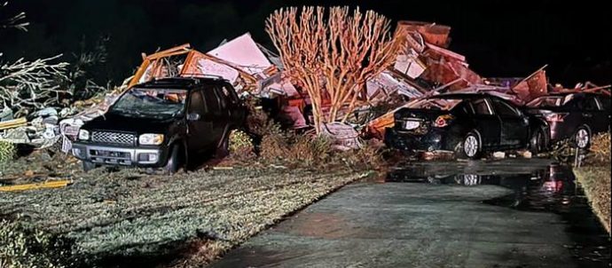
[[[160,167],[166,154],[161,148],[121,147],[75,143],[72,152],[76,158],[101,165]]]

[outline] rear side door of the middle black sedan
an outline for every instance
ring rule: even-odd
[[[498,146],[501,136],[501,124],[499,118],[494,114],[489,101],[484,98],[470,101],[474,109],[474,122],[476,130],[480,132],[483,146]]]

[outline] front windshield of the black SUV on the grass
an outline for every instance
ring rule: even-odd
[[[170,118],[184,112],[186,90],[133,88],[114,103],[114,114]]]

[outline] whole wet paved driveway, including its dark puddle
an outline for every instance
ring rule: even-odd
[[[609,267],[571,169],[545,160],[420,162],[348,185],[213,267]]]

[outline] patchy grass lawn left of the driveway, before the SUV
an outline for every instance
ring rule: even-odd
[[[224,169],[149,175],[138,169],[82,173],[78,162],[41,155],[3,168],[3,182],[68,178],[59,189],[0,192],[3,216],[75,240],[98,264],[206,264],[287,214],[365,174],[349,170]],[[62,162],[62,159],[64,162]],[[59,168],[58,168],[59,167]],[[170,264],[170,263],[169,263]],[[148,265],[148,264],[147,264]]]

